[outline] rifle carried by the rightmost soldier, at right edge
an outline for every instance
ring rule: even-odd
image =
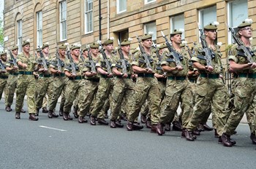
[[[227,23],[226,23],[226,25],[227,25]],[[230,28],[228,25],[227,25],[227,28],[231,31],[233,40],[236,42],[236,44],[238,44],[237,49],[240,50],[241,52],[243,52],[244,56],[247,58],[249,63],[254,63],[255,60],[252,57],[255,56],[255,54],[251,50],[249,50],[248,47],[246,47],[244,45],[244,42],[242,42],[241,39],[238,38],[238,36],[236,36],[236,33],[233,28]]]

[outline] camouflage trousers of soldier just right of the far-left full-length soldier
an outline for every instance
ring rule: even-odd
[[[47,105],[47,97],[52,98],[53,97],[53,79],[52,77],[40,77],[37,80],[37,100],[36,100],[36,106],[37,110],[41,109],[43,106],[43,101],[45,99],[46,105]]]

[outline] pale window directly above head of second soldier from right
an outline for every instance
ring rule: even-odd
[[[214,23],[214,21],[217,21],[217,12],[216,12],[216,6],[214,7],[208,7],[206,9],[201,9],[199,11],[199,22],[200,22],[200,28],[203,28],[203,26],[208,25],[210,23]]]

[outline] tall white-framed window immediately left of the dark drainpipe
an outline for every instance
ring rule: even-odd
[[[88,2],[91,2],[91,9],[87,10],[87,4],[89,4]],[[93,0],[85,0],[85,34],[89,34],[91,32],[94,31],[94,25],[93,25],[93,19],[94,19],[94,12],[93,12],[93,7],[94,7],[94,1]],[[89,19],[88,19],[89,18]],[[89,25],[88,25],[89,24]]]

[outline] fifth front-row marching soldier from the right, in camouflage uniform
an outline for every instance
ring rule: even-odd
[[[129,112],[130,99],[135,91],[135,84],[132,82],[132,76],[135,76],[132,73],[132,68],[130,63],[132,63],[132,57],[129,55],[130,43],[127,39],[124,39],[124,42],[121,42],[119,50],[119,56],[113,58],[113,74],[116,76],[115,84],[113,87],[112,101],[111,104],[111,117],[110,117],[110,127],[124,127],[121,122],[118,120],[118,115],[121,112],[122,102],[124,102],[124,112]],[[120,52],[123,55],[124,63],[121,63]],[[123,66],[126,66],[123,68]],[[125,71],[126,70],[126,71]]]

